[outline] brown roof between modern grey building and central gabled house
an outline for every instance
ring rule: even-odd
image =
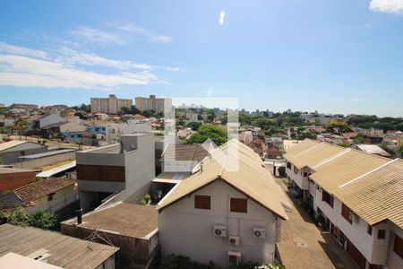
[[[209,152],[201,144],[168,144],[161,161],[201,161]]]

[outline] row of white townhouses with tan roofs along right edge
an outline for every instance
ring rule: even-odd
[[[288,178],[359,268],[403,266],[403,161],[310,140],[285,157]]]

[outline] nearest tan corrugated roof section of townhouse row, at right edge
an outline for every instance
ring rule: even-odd
[[[333,195],[370,225],[390,220],[403,229],[403,161],[390,161]]]

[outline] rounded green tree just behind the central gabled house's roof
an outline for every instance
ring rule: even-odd
[[[200,126],[196,133],[187,140],[186,143],[204,143],[211,139],[217,145],[227,142],[227,130],[213,125]]]

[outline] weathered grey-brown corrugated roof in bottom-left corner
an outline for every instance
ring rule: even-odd
[[[0,225],[0,256],[9,252],[29,256],[40,248],[48,250],[48,264],[69,269],[98,268],[119,249],[64,236],[56,231]]]

